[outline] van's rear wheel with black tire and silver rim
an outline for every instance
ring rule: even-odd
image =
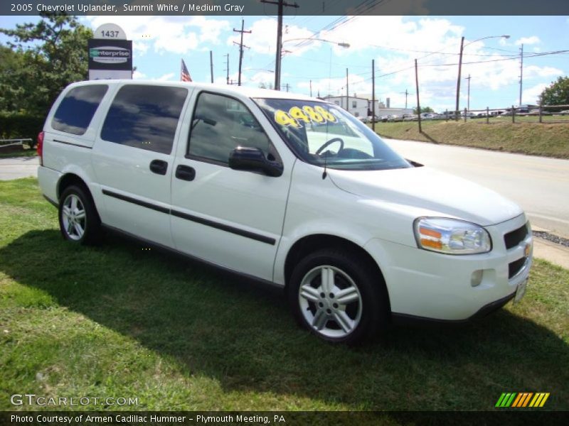
[[[71,208],[73,204],[75,209]],[[70,209],[73,211],[70,212]],[[85,187],[71,185],[65,188],[60,197],[58,216],[59,229],[64,239],[82,245],[100,242],[101,219]]]

